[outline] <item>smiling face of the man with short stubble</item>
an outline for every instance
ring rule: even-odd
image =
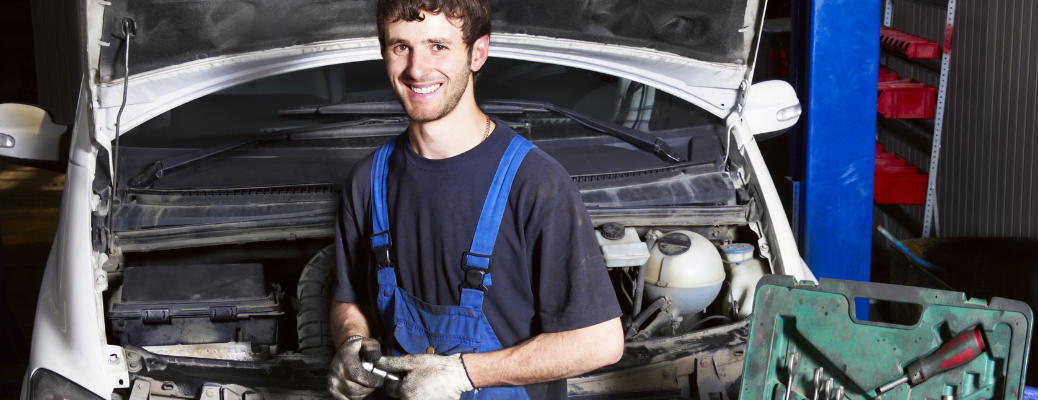
[[[408,117],[432,122],[446,116],[469,89],[472,59],[461,22],[424,12],[422,21],[386,25],[382,56]]]

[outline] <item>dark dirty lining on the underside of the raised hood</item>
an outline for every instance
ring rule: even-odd
[[[752,65],[759,0],[491,0],[496,33],[648,48]],[[104,4],[104,3],[103,3]],[[113,0],[106,4],[99,78],[124,74],[122,21],[132,19],[133,74],[210,57],[374,37],[375,0]]]

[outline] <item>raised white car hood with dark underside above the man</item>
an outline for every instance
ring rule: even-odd
[[[492,57],[581,68],[727,118],[753,79],[766,0],[491,0]],[[376,0],[84,1],[95,132],[104,138],[266,76],[381,58]],[[129,90],[124,96],[132,21]],[[119,113],[126,101],[126,109]],[[107,141],[107,140],[101,140]]]

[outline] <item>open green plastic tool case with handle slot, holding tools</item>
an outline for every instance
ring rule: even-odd
[[[892,301],[916,309],[918,322],[895,325],[861,321],[855,298]],[[790,399],[814,399],[814,375],[832,378],[842,399],[877,398],[876,390],[905,368],[934,353],[957,334],[976,326],[985,341],[979,356],[912,386],[900,384],[882,400],[1021,399],[1033,314],[1021,301],[966,299],[963,293],[885,284],[820,279],[797,284],[766,275],[757,286],[740,399],[784,399],[792,353],[799,368]],[[818,399],[822,399],[820,392]],[[831,397],[830,397],[831,398]]]

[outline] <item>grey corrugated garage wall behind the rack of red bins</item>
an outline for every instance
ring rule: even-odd
[[[894,28],[943,41],[944,7],[909,0],[894,4]],[[957,1],[937,177],[940,237],[1038,237],[1035,22],[1038,2],[1032,0]],[[937,85],[937,74],[893,57],[889,66]],[[929,154],[890,132],[880,130],[878,136],[909,162],[924,170],[929,165]],[[923,206],[900,207],[922,222]]]

